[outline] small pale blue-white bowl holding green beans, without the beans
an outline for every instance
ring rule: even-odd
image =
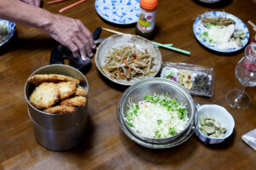
[[[223,138],[210,138],[201,133],[200,127],[200,117],[201,116],[212,116],[215,118],[218,122],[220,122],[221,127],[226,128],[226,133]],[[202,142],[205,144],[218,144],[223,142],[225,139],[228,139],[230,135],[233,133],[233,130],[235,128],[235,121],[233,116],[230,115],[230,113],[222,106],[220,105],[201,105],[198,108],[198,122],[195,129],[196,136],[201,139]]]

